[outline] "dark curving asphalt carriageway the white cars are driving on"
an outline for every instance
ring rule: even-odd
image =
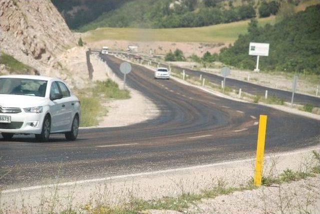
[[[103,60],[122,76],[121,60]],[[320,121],[216,97],[173,80],[155,80],[152,71],[138,65],[132,65],[127,84],[151,99],[160,116],[126,127],[83,129],[75,142],[62,135],[52,135],[48,143],[35,143],[33,136],[0,140],[2,189],[253,156],[259,114],[268,116],[267,151],[311,146],[320,135]]]

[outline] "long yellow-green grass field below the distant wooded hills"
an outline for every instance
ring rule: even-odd
[[[258,18],[259,26],[274,23],[274,17]],[[247,33],[249,20],[215,24],[204,27],[185,28],[113,28],[103,27],[88,31],[84,38],[88,42],[104,39],[129,41],[173,41],[173,42],[234,42],[239,34]]]

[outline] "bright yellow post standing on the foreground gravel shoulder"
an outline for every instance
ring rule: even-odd
[[[264,141],[266,133],[266,115],[260,115],[259,128],[258,128],[258,140],[256,145],[256,159],[255,159],[255,172],[254,172],[254,185],[261,186],[262,180],[262,166],[263,166],[263,154],[264,154]]]

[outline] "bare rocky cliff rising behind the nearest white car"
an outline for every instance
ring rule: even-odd
[[[62,75],[57,56],[76,39],[50,0],[0,0],[0,50],[41,75]]]

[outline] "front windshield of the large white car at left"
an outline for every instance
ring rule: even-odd
[[[0,94],[44,97],[46,84],[37,79],[0,78]]]

